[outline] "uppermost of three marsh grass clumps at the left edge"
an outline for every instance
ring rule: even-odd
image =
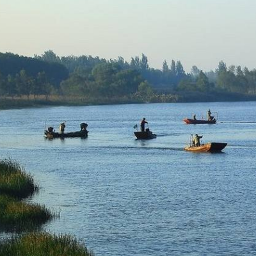
[[[0,161],[0,193],[26,198],[38,189],[33,176],[10,159]]]

